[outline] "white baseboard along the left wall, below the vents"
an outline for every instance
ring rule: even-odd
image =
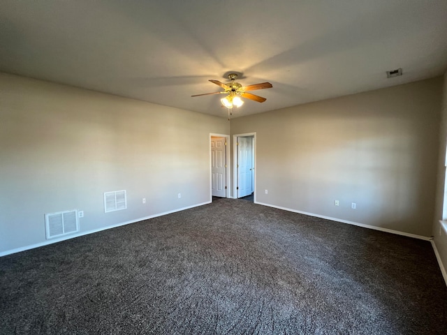
[[[94,229],[94,230],[89,230],[87,232],[79,232],[78,234],[73,234],[73,235],[70,235],[68,237],[59,237],[58,239],[51,239],[51,241],[43,241],[41,243],[31,244],[29,246],[22,246],[20,248],[15,248],[15,249],[3,251],[3,252],[0,253],[0,257],[6,256],[6,255],[11,255],[13,253],[20,253],[21,251],[27,251],[27,250],[30,250],[30,249],[38,248],[40,246],[47,246],[49,244],[54,244],[54,243],[57,243],[57,242],[66,241],[67,239],[74,239],[76,237],[80,237],[80,236],[84,236],[84,235],[88,235],[88,234],[93,234],[95,232],[101,232],[103,230],[117,228],[117,227],[122,226],[122,225],[129,225],[130,223],[135,223],[135,222],[147,220],[149,218],[156,218],[158,216],[163,216],[163,215],[166,215],[166,214],[175,213],[176,211],[184,211],[185,209],[190,209],[190,208],[193,208],[193,207],[199,207],[199,206],[203,206],[204,204],[210,204],[210,203],[211,203],[211,201],[202,202],[200,204],[193,204],[192,206],[182,207],[182,208],[179,208],[179,209],[173,209],[172,211],[164,211],[163,213],[157,213],[157,214],[145,216],[144,218],[135,218],[135,220],[126,221],[126,222],[122,222],[122,223],[116,223],[115,225],[108,225],[106,227],[98,228],[98,229]]]

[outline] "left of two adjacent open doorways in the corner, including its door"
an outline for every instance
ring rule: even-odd
[[[228,149],[230,136],[210,134],[211,201],[228,198]]]

